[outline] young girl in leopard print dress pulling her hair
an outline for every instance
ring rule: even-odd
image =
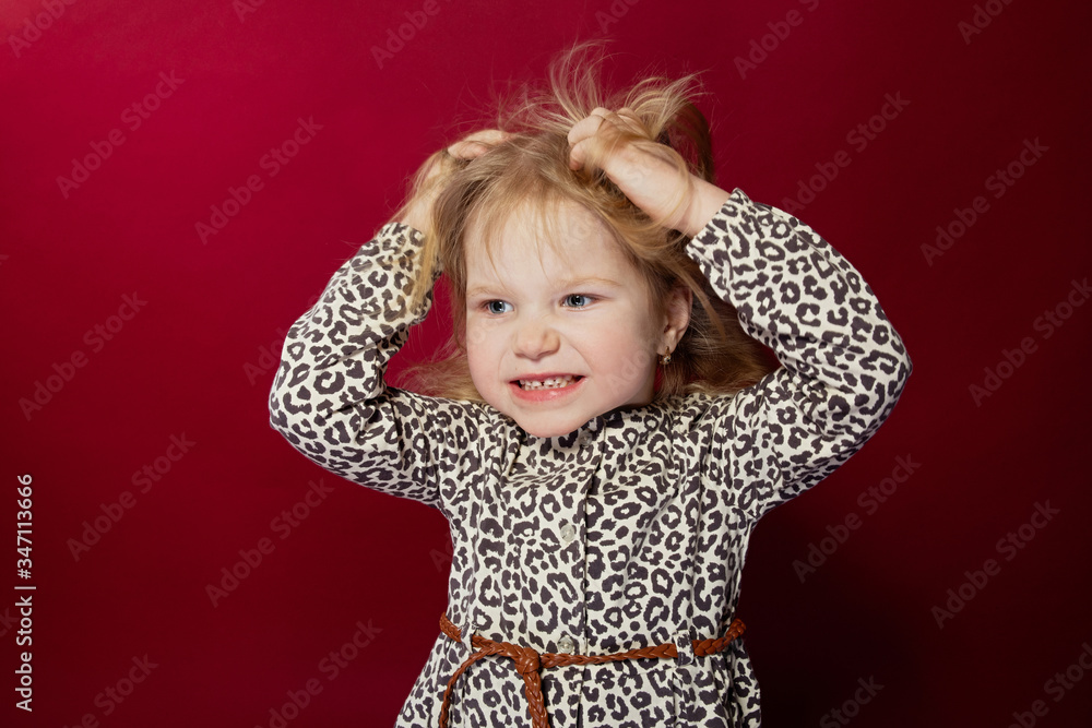
[[[583,50],[426,162],[292,326],[270,395],[304,455],[450,524],[399,727],[758,726],[735,614],[751,530],[910,375],[844,258],[713,183],[693,76],[604,98]],[[420,393],[388,386],[441,271],[447,356]]]

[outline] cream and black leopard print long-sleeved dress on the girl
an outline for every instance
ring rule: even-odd
[[[270,393],[271,426],[300,453],[450,525],[462,641],[438,634],[396,728],[438,725],[473,634],[539,653],[677,645],[676,658],[543,668],[553,728],[759,726],[745,640],[704,656],[691,641],[736,616],[758,520],[857,452],[902,393],[911,361],[871,289],[811,228],[737,189],[687,252],[782,367],[733,396],[541,438],[488,405],[384,384],[431,306],[408,310],[419,246],[390,223],[346,261],[288,332]],[[511,659],[462,675],[448,725],[531,726]]]

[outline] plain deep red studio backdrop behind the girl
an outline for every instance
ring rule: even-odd
[[[1058,701],[1046,681],[1092,644],[1092,306],[1049,337],[1034,325],[1092,272],[1087,3],[993,0],[999,14],[968,43],[969,1],[617,0],[615,19],[602,14],[609,0],[439,0],[379,68],[371,47],[423,4],[268,0],[240,17],[228,0],[80,0],[55,2],[54,20],[39,1],[3,3],[0,588],[37,590],[34,713],[12,707],[9,611],[0,723],[269,726],[287,691],[318,678],[293,728],[393,725],[446,607],[446,523],[324,474],[270,429],[266,349],[280,353],[287,326],[389,218],[404,176],[473,121],[491,81],[538,76],[573,39],[609,37],[620,80],[649,64],[708,69],[701,107],[726,190],[784,207],[817,164],[848,154],[797,214],[865,275],[915,365],[877,437],[755,535],[739,614],[765,725],[838,725],[830,711],[870,678],[883,687],[859,715],[850,706],[854,725],[1007,726],[1036,700],[1036,725],[1088,725],[1092,675],[1072,670],[1081,680]],[[741,74],[734,59],[791,10],[803,22]],[[131,129],[123,110],[161,72],[182,81]],[[846,135],[886,94],[910,103],[854,146]],[[321,129],[271,177],[260,160],[299,118]],[[123,144],[66,198],[58,177],[112,129]],[[1047,151],[995,198],[986,179],[1036,139]],[[250,175],[262,189],[203,243],[197,223]],[[978,195],[988,211],[930,264],[922,246]],[[146,305],[111,320],[134,293]],[[111,321],[123,326],[96,350],[86,332]],[[441,327],[432,317],[415,331],[392,371],[431,350]],[[1034,350],[976,404],[971,385],[1024,337]],[[74,353],[85,366],[27,418],[20,401]],[[195,444],[140,492],[132,475],[183,433]],[[858,494],[907,456],[919,467],[867,513]],[[26,582],[13,548],[24,473]],[[333,492],[281,539],[271,522],[320,478]],[[126,491],[132,508],[74,559],[69,539]],[[1059,513],[1025,529],[1033,539],[1007,561],[997,541],[1047,501]],[[860,527],[802,583],[794,560],[854,513]],[[275,550],[214,607],[206,585],[261,538]],[[934,607],[989,558],[999,572],[938,626]],[[381,631],[329,680],[320,660],[358,620]],[[104,715],[96,695],[144,655],[157,667]]]

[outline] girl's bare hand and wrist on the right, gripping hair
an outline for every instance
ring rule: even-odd
[[[634,139],[637,138],[637,139]],[[569,130],[569,167],[602,169],[629,200],[665,227],[693,237],[728,193],[689,172],[678,152],[644,138],[628,107],[596,107]]]

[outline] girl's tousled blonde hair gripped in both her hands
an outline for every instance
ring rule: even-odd
[[[471,223],[479,224],[486,251],[517,211],[531,213],[545,241],[558,248],[559,237],[572,239],[572,218],[558,215],[560,207],[575,203],[605,224],[619,250],[641,273],[656,315],[665,314],[668,294],[679,286],[693,294],[690,323],[670,363],[661,368],[654,402],[690,392],[733,394],[759,381],[774,369],[760,345],[739,325],[736,310],[709,286],[701,268],[686,255],[689,238],[668,229],[665,220],[651,219],[631,203],[602,169],[590,160],[584,169],[569,168],[568,133],[592,109],[632,109],[640,119],[640,134],[622,141],[664,146],[680,176],[693,174],[713,181],[713,155],[709,124],[690,100],[700,92],[697,76],[678,80],[650,76],[628,89],[606,95],[598,81],[602,41],[577,44],[549,64],[545,87],[524,85],[515,103],[501,103],[496,128],[510,134],[474,159],[437,152],[412,181],[411,194],[393,219],[402,219],[413,203],[431,190],[426,182],[432,163],[441,165],[441,187],[435,192],[431,230],[425,236],[411,306],[416,308],[428,291],[437,270],[443,272],[450,291],[452,333],[432,360],[411,365],[399,378],[423,394],[484,402],[471,379],[466,361],[466,264],[465,236]],[[676,211],[678,206],[676,205]],[[565,229],[565,224],[569,229]],[[559,229],[561,228],[561,229]]]

